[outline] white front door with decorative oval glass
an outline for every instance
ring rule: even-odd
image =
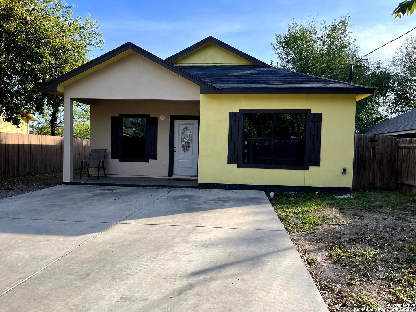
[[[173,175],[198,175],[198,120],[175,120]]]

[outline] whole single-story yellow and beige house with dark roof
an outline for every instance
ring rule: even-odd
[[[355,105],[374,94],[272,67],[213,37],[167,59],[127,42],[43,90],[64,97],[66,183],[77,101],[91,105],[90,144],[107,149],[108,176],[334,193],[352,187]]]

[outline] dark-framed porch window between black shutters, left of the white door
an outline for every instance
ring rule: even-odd
[[[121,158],[146,159],[146,117],[122,118]]]

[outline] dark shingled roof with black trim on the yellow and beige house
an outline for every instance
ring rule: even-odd
[[[254,65],[193,65],[175,66],[170,62],[191,53],[207,44],[215,44],[229,52],[247,59]],[[237,50],[224,42],[207,37],[195,45],[178,52],[166,60],[127,42],[110,52],[64,74],[43,87],[43,91],[63,96],[64,87],[107,64],[136,52],[168,70],[188,79],[200,87],[200,93],[281,93],[281,94],[359,94],[358,99],[374,94],[374,88],[349,84],[312,75],[291,72],[271,67],[250,55]]]

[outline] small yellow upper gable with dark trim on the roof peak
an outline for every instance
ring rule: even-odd
[[[202,49],[201,49],[202,48]],[[222,48],[222,49],[220,49]],[[228,53],[227,53],[228,52]],[[213,55],[219,53],[218,55]],[[225,42],[212,36],[197,42],[186,49],[173,54],[165,61],[178,65],[258,65],[270,67],[269,64],[256,59]],[[203,62],[200,62],[203,61]],[[198,62],[198,63],[192,63]],[[204,63],[209,62],[209,63]]]

